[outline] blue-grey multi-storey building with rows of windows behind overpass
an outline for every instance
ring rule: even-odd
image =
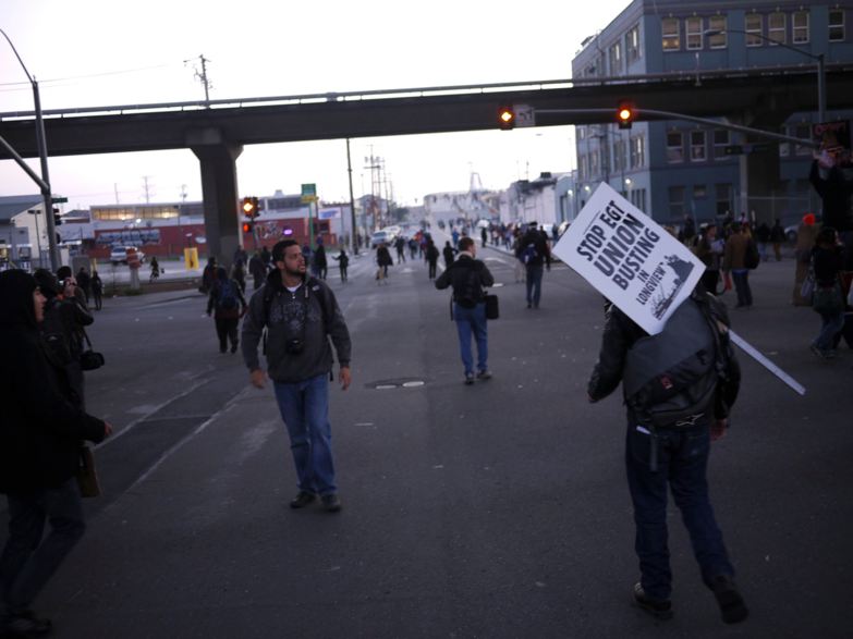
[[[849,7],[821,1],[635,0],[583,42],[572,74],[695,72],[700,82],[703,71],[802,64],[815,69],[817,106],[814,57],[825,56],[827,64],[853,60],[852,17]],[[850,115],[829,112],[827,120]],[[793,113],[778,131],[811,138],[816,122],[816,112]],[[778,164],[769,189],[742,187],[740,151]],[[576,152],[581,206],[607,182],[661,223],[680,224],[685,217],[702,223],[727,213],[790,223],[820,207],[808,184],[811,148],[743,145],[741,134],[722,127],[686,121],[578,126]]]

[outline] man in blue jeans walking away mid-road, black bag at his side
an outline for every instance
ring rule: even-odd
[[[477,379],[491,379],[488,369],[489,335],[486,324],[486,295],[484,286],[491,286],[495,278],[480,260],[471,237],[459,241],[459,258],[436,280],[439,291],[453,287],[453,318],[459,332],[459,349],[465,367],[465,383],[474,383],[474,359],[471,352],[471,334],[477,340]]]

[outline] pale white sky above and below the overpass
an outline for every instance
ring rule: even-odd
[[[571,76],[581,42],[629,0],[546,0],[526,11],[504,0],[2,0],[0,28],[38,81],[42,109],[204,99],[195,77],[207,63],[211,99],[407,87],[476,85]],[[532,7],[532,5],[527,5]],[[32,111],[33,93],[0,36],[0,113]],[[49,140],[48,140],[49,142]],[[476,172],[502,189],[543,171],[574,168],[571,126],[353,138],[353,192],[370,192],[366,161],[382,158],[393,199],[468,191]],[[40,174],[37,159],[29,165]],[[49,159],[65,209],[202,199],[192,151]],[[317,184],[325,201],[349,201],[344,140],[245,146],[241,196],[298,193]],[[0,196],[37,194],[12,160],[0,160]]]

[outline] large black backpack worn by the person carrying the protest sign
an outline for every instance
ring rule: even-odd
[[[642,426],[689,428],[728,415],[740,373],[722,320],[709,300],[691,296],[660,333],[634,343],[622,384]]]

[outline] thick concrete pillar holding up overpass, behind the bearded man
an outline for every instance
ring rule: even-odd
[[[243,146],[226,140],[218,128],[188,132],[187,146],[202,163],[207,255],[216,257],[220,265],[230,265],[234,250],[242,245],[236,159]]]

